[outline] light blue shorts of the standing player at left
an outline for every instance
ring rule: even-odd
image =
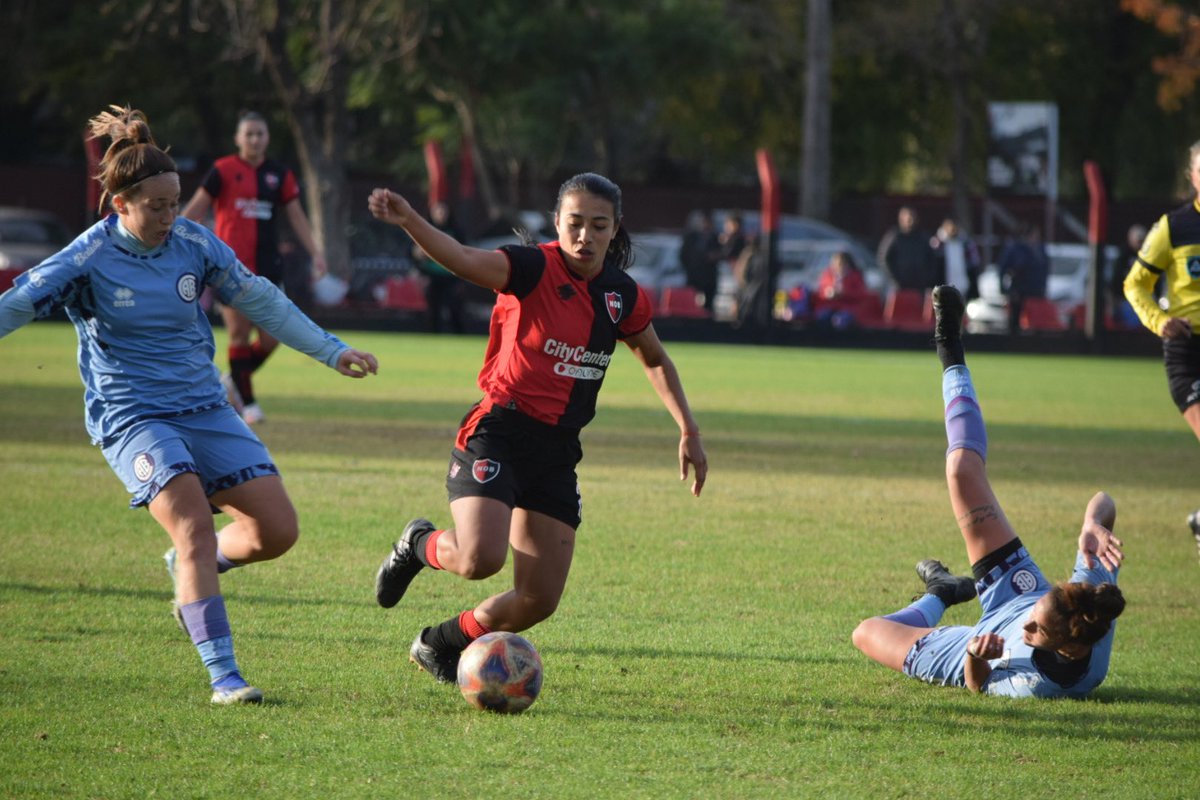
[[[266,445],[228,405],[134,422],[102,452],[132,495],[131,509],[148,505],[169,480],[184,473],[200,479],[206,497],[280,474]]]

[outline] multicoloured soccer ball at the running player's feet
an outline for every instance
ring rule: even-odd
[[[516,633],[485,633],[458,658],[458,691],[476,709],[521,714],[541,691],[541,656]]]

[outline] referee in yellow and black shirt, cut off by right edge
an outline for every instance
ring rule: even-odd
[[[1124,293],[1138,318],[1163,338],[1163,363],[1171,399],[1200,438],[1200,142],[1188,150],[1188,180],[1196,197],[1154,223],[1138,251]],[[1162,279],[1166,308],[1154,297]],[[1200,510],[1188,517],[1200,548]]]

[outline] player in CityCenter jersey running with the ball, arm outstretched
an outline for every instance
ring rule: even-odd
[[[694,470],[697,497],[708,461],[679,373],[650,324],[650,302],[624,271],[632,253],[616,184],[576,175],[558,193],[558,241],[499,251],[461,245],[388,190],[372,192],[368,205],[448,270],[498,293],[479,373],[484,397],[463,417],[450,458],[454,527],[412,521],[376,577],[376,599],[390,608],[424,567],[486,578],[504,566],[511,546],[510,591],[413,642],[413,661],[449,682],[472,640],[523,631],[558,606],[581,522],[580,429],[595,414],[618,341],[642,362],[679,426],[679,476]]]

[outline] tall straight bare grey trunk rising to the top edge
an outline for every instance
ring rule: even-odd
[[[804,71],[804,143],[800,160],[800,213],[829,218],[830,116],[833,107],[832,0],[809,0]]]

